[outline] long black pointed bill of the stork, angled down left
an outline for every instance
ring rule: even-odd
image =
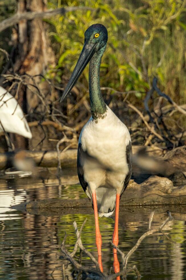
[[[96,44],[92,43],[84,43],[83,49],[81,51],[81,54],[79,56],[79,59],[77,61],[77,64],[75,65],[74,71],[70,77],[70,80],[68,81],[68,84],[66,86],[66,89],[64,90],[64,93],[62,95],[61,101],[66,97],[66,95],[71,91],[75,83],[77,82],[79,76],[89,63],[91,57],[95,53],[95,47]],[[61,102],[60,101],[60,102]]]

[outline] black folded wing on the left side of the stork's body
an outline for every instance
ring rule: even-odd
[[[79,143],[78,148],[77,148],[77,175],[79,178],[79,182],[81,184],[81,187],[83,188],[84,191],[87,189],[87,182],[84,180],[84,171],[83,171],[83,159],[86,156],[86,152],[83,151],[81,147],[81,143]]]

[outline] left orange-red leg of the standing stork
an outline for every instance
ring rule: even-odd
[[[94,191],[92,193],[92,199],[93,199],[93,205],[94,205],[94,217],[95,217],[95,225],[96,225],[96,246],[97,246],[97,252],[98,252],[98,263],[101,272],[103,272],[103,265],[101,261],[101,233],[99,230],[99,221],[98,221],[98,213],[97,213],[97,200],[96,200],[96,192]]]

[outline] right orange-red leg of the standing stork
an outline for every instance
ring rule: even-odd
[[[116,209],[115,209],[115,226],[114,226],[114,233],[113,233],[113,243],[115,246],[118,245],[118,217],[119,217],[119,197],[120,195],[117,193],[116,194]],[[116,249],[113,249],[114,252],[114,272],[117,273],[119,272],[119,262],[117,258],[117,251]],[[120,280],[120,277],[116,277],[117,280]]]

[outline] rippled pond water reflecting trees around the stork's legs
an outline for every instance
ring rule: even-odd
[[[71,183],[69,185],[69,182]],[[45,211],[18,211],[12,205],[21,202],[45,199],[79,199],[85,197],[74,170],[66,170],[59,187],[56,171],[41,171],[39,178],[19,178],[6,175],[0,179],[0,279],[63,279],[62,271],[57,269],[53,278],[50,275],[56,266],[66,261],[60,259],[60,244],[67,232],[66,248],[73,250],[76,240],[73,221],[81,224],[87,222],[81,234],[83,245],[97,258],[95,245],[94,215],[91,208],[66,209],[63,213]],[[170,221],[164,232],[174,242],[161,233],[148,236],[134,252],[128,265],[136,265],[141,279],[186,279],[186,208],[168,207],[172,215],[179,219]],[[120,209],[119,247],[126,253],[138,238],[147,231],[151,208],[128,207]],[[159,226],[166,219],[167,207],[157,207],[152,228]],[[114,220],[102,217],[100,231],[102,234],[102,261],[104,271],[109,270],[113,263],[113,250],[109,243],[112,239]],[[119,258],[120,259],[120,258]],[[83,264],[93,266],[88,257],[83,256]],[[68,279],[72,266],[66,269]],[[127,279],[136,279],[130,273]]]

